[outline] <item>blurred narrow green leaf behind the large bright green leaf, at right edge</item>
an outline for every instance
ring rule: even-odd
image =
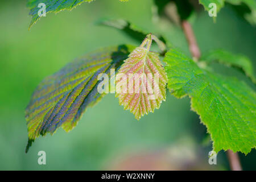
[[[246,76],[250,77],[254,83],[256,82],[254,77],[253,64],[251,63],[251,60],[246,56],[238,54],[236,55],[222,49],[216,49],[205,53],[201,57],[201,61],[204,61],[207,64],[217,61],[228,66],[241,68],[242,71],[245,72]]]

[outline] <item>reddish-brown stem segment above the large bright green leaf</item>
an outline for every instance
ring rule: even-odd
[[[191,27],[191,24],[187,20],[181,21],[181,27],[184,31],[184,34],[188,41],[189,50],[192,53],[193,57],[196,57],[196,59],[199,59],[201,53],[200,49],[197,45],[196,38],[193,32],[193,29]]]

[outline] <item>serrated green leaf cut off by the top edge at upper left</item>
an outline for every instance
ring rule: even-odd
[[[29,28],[32,27],[39,19],[38,11],[42,7],[38,7],[39,3],[44,3],[46,5],[46,13],[59,13],[63,10],[72,10],[83,2],[92,2],[94,0],[28,0],[27,7],[30,9],[30,15],[32,16],[32,21]],[[129,0],[119,0],[119,1],[129,1]]]

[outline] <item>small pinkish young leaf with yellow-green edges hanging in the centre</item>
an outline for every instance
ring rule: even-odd
[[[134,49],[118,71],[116,97],[136,119],[154,112],[166,100],[167,76],[156,53],[150,51],[151,34]],[[147,46],[147,48],[144,48]]]

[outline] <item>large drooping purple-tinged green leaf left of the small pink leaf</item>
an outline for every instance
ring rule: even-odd
[[[55,133],[60,126],[70,131],[82,113],[104,96],[97,91],[100,73],[119,69],[133,46],[102,48],[66,65],[45,78],[36,88],[26,109],[28,148],[39,135]]]

